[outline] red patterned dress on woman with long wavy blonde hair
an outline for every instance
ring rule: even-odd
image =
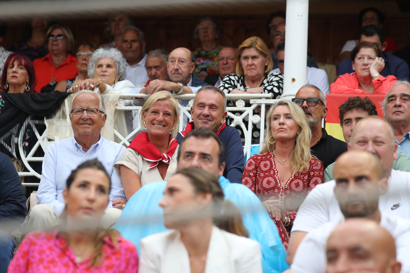
[[[262,202],[279,199],[283,204],[285,215],[291,219],[291,224],[286,227],[282,221],[275,221],[273,219],[278,227],[280,239],[282,239],[286,250],[289,242],[289,232],[296,217],[296,212],[306,195],[316,185],[323,183],[323,173],[322,162],[312,158],[307,171],[291,176],[287,180],[285,187],[282,187],[278,178],[275,161],[273,160],[273,153],[253,155],[246,162],[244,173],[242,174],[242,184],[255,192]]]

